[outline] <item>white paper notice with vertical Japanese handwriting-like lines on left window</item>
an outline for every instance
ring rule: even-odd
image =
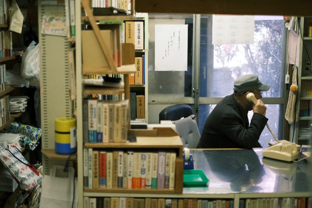
[[[155,25],[155,71],[186,71],[188,26]]]

